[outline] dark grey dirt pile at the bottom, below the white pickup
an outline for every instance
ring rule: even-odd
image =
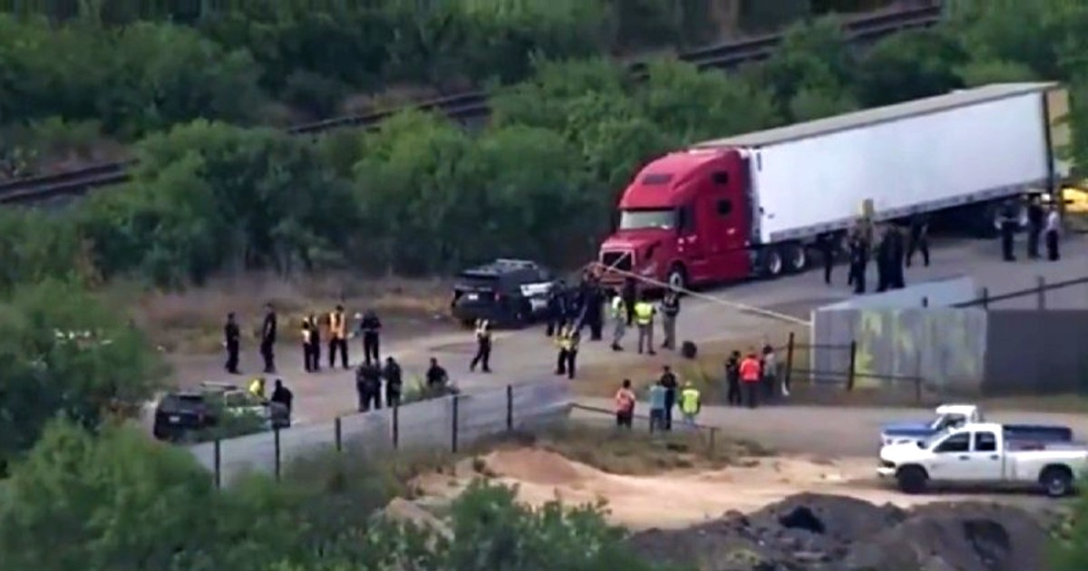
[[[1018,508],[931,504],[903,510],[800,494],[685,530],[630,539],[646,558],[704,571],[1023,571],[1046,569],[1043,522]]]

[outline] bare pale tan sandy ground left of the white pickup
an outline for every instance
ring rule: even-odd
[[[609,519],[632,530],[684,527],[728,511],[752,512],[801,493],[834,494],[899,507],[978,499],[905,496],[875,481],[871,459],[765,457],[715,470],[621,475],[539,447],[496,450],[475,462],[461,462],[454,473],[420,476],[415,485],[426,496],[452,499],[481,475],[516,485],[519,498],[531,505],[556,499],[568,505],[605,501]]]

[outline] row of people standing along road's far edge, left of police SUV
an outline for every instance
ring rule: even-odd
[[[308,373],[321,371],[321,347],[322,339],[327,339],[329,368],[333,369],[339,357],[339,364],[348,369],[348,339],[358,336],[362,339],[362,352],[367,363],[380,363],[381,331],[382,321],[373,311],[356,313],[356,331],[348,332],[347,316],[343,306],[336,306],[327,314],[319,316],[310,313],[302,318],[300,325],[300,342],[302,349],[302,369]],[[264,361],[264,374],[274,374],[275,367],[275,344],[279,328],[279,319],[272,303],[264,306],[264,318],[261,321],[259,333],[260,353]],[[237,315],[234,312],[227,313],[226,323],[223,325],[223,347],[226,349],[226,362],[223,369],[230,374],[242,374],[238,369],[239,353],[242,351],[242,327],[238,325]]]

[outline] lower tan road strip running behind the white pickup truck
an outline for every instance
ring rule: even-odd
[[[583,398],[580,405],[610,409],[607,399]],[[641,406],[640,414],[648,408]],[[698,423],[721,429],[722,434],[758,442],[783,454],[811,454],[827,457],[871,457],[879,449],[880,424],[929,420],[931,409],[914,408],[830,408],[830,407],[706,407]],[[599,418],[598,412],[574,411],[576,418]],[[1088,435],[1088,417],[1070,413],[994,411],[993,422],[1061,424],[1071,426],[1076,437]]]

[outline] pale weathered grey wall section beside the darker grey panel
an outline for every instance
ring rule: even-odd
[[[857,343],[856,386],[918,378],[945,394],[981,389],[987,312],[980,309],[840,309],[813,319],[813,370],[849,371],[850,351],[828,346]],[[819,381],[819,375],[816,375]],[[828,376],[842,382],[842,377]]]

